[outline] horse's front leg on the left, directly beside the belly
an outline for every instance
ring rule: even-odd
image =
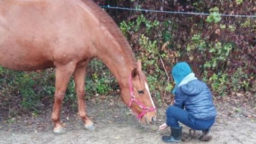
[[[67,65],[56,66],[54,105],[51,116],[54,123],[53,132],[55,134],[65,133],[65,129],[63,129],[60,123],[61,103],[65,96],[69,79],[74,73],[75,67],[76,64],[74,62],[69,62]]]

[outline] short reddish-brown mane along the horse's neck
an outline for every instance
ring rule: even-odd
[[[113,35],[116,41],[120,44],[120,46],[123,47],[122,50],[124,52],[126,59],[131,60],[132,66],[134,68],[137,67],[136,65],[137,60],[135,58],[134,53],[132,52],[132,47],[128,43],[126,37],[124,37],[122,31],[119,29],[115,21],[93,1],[91,0],[81,0],[81,1],[91,8],[93,13],[95,14],[95,17],[97,17],[101,23],[104,23],[104,25],[109,29],[110,34]]]

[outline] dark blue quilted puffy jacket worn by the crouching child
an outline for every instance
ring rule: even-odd
[[[211,91],[198,79],[180,86],[175,92],[174,99],[175,107],[185,108],[196,119],[206,120],[216,117]]]

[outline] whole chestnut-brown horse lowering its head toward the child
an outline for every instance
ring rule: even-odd
[[[74,76],[79,116],[94,129],[85,110],[85,71],[98,57],[111,70],[122,100],[142,123],[156,118],[147,78],[118,26],[91,0],[1,0],[0,65],[14,70],[55,67],[52,110],[54,133],[65,132],[60,123],[61,102]]]

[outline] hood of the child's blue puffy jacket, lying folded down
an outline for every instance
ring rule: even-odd
[[[182,85],[180,90],[189,96],[194,96],[202,91],[202,87],[204,87],[203,83],[198,80],[193,80],[185,85]]]

